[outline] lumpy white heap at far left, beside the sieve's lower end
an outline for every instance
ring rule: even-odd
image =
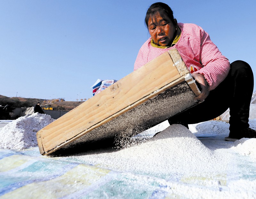
[[[53,121],[50,115],[39,113],[12,121],[0,129],[0,148],[21,150],[36,147],[36,132]]]

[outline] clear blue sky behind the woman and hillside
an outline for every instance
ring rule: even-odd
[[[155,2],[0,0],[0,94],[91,98],[98,78],[119,80],[133,71]],[[230,62],[248,62],[256,76],[255,1],[162,2],[178,22],[204,28]]]

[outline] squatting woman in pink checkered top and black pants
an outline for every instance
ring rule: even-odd
[[[256,138],[256,131],[248,124],[253,92],[253,74],[249,64],[240,60],[229,64],[201,27],[177,23],[167,4],[152,4],[145,24],[151,37],[140,48],[134,70],[176,48],[201,90],[195,100],[204,100],[169,118],[169,123],[180,123],[188,128],[188,124],[208,121],[229,107],[230,132],[225,140]]]

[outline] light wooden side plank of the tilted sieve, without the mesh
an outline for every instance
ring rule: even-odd
[[[38,131],[40,153],[49,154],[67,145],[188,73],[176,49],[165,52]]]

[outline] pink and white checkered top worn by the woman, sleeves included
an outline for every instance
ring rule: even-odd
[[[149,38],[140,48],[134,70],[142,67],[164,52],[176,48],[190,73],[200,73],[209,84],[208,90],[216,88],[228,75],[230,64],[201,27],[195,24],[178,23],[180,40],[166,49],[152,47]]]

